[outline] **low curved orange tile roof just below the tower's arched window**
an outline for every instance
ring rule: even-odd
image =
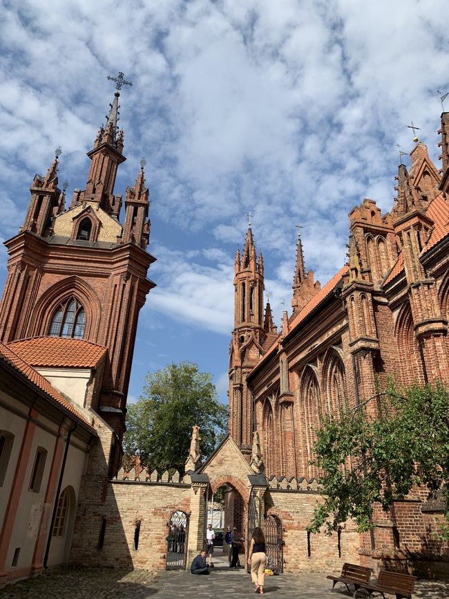
[[[33,337],[8,344],[32,366],[95,368],[106,347],[81,339]]]

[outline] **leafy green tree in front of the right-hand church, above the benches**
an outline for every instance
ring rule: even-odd
[[[399,393],[393,385],[379,394],[377,416],[367,416],[368,404],[345,407],[325,417],[317,431],[314,464],[320,468],[325,499],[309,525],[318,532],[336,531],[348,518],[359,532],[372,527],[373,504],[389,510],[414,485],[430,493],[441,489],[446,502],[449,538],[449,393],[435,387],[413,386]]]

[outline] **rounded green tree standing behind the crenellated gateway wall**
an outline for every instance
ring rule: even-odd
[[[149,373],[143,394],[128,407],[125,457],[140,452],[147,468],[184,473],[193,425],[200,427],[201,451],[211,453],[227,429],[227,407],[218,401],[209,373],[191,362]]]

